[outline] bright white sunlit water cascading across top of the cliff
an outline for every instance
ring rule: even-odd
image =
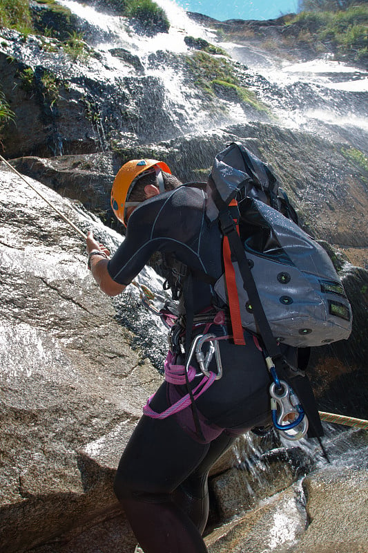
[[[226,123],[249,122],[249,111],[242,109],[240,104],[221,99],[218,99],[217,114],[213,113],[211,118],[208,115],[201,116],[200,100],[195,97],[195,90],[185,83],[182,70],[171,68],[169,64],[166,68],[161,64],[155,67],[155,63],[150,60],[150,56],[161,51],[174,54],[188,53],[188,47],[184,42],[184,37],[187,35],[202,37],[213,44],[217,42],[213,30],[196,24],[175,2],[171,0],[157,2],[165,10],[171,27],[168,32],[161,32],[152,37],[137,34],[131,28],[128,19],[124,17],[108,15],[95,10],[93,6],[75,0],[59,0],[59,2],[75,13],[81,21],[88,22],[88,39],[107,62],[105,67],[104,64],[99,66],[99,71],[104,72],[104,78],[119,79],[129,75],[126,64],[110,52],[112,48],[124,48],[139,57],[144,67],[144,75],[152,75],[163,82],[166,111],[172,114],[177,129],[181,128],[182,120],[186,120],[186,129],[193,128],[193,131],[204,131]],[[326,134],[324,126],[331,124],[367,130],[367,113],[356,113],[354,105],[350,105],[349,96],[346,97],[346,102],[344,97],[344,94],[368,91],[366,71],[334,62],[328,57],[291,64],[275,56],[268,56],[264,51],[253,47],[251,43],[249,46],[229,42],[218,44],[233,59],[248,68],[249,75],[254,77],[253,85],[249,84],[249,88],[253,88],[260,100],[270,106],[273,115],[278,118],[278,124],[322,134]],[[260,84],[259,77],[267,79],[270,86],[264,88]],[[301,105],[297,105],[299,88],[302,85],[308,88],[308,101],[303,104],[304,98],[301,96],[301,102],[299,102]],[[272,87],[277,88],[274,93]],[[296,98],[296,105],[291,105],[293,97]],[[222,111],[226,115],[223,115]],[[254,117],[254,114],[251,115],[251,120]]]

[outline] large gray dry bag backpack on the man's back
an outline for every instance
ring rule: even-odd
[[[224,234],[225,272],[215,292],[229,303],[234,335],[238,324],[266,344],[267,335],[297,347],[347,339],[351,307],[340,278],[325,250],[296,224],[269,167],[233,142],[215,158],[207,196],[206,214]]]

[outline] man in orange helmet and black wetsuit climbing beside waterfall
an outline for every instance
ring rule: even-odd
[[[206,218],[203,183],[180,186],[164,162],[132,160],[117,174],[111,202],[127,225],[124,242],[108,259],[92,233],[87,238],[101,290],[123,292],[159,252],[180,299],[166,381],[122,455],[115,493],[145,553],[205,553],[209,470],[237,435],[269,424],[269,374],[256,337],[245,331],[246,345],[233,344],[228,309],[213,290],[223,272],[222,235]],[[209,333],[218,349],[202,373],[189,351]],[[206,355],[209,342],[202,345]],[[295,365],[296,349],[284,353]]]

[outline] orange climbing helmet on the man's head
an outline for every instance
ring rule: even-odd
[[[164,191],[164,180],[161,171],[170,173],[171,170],[163,161],[157,160],[130,160],[119,169],[111,189],[111,207],[123,225],[126,226],[126,203],[133,187],[139,178],[146,172],[154,169],[159,182],[159,191]]]

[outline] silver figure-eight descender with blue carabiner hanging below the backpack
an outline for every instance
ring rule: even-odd
[[[298,410],[298,396],[291,391],[287,382],[280,380],[280,386],[283,388],[281,391],[275,382],[269,387],[273,424],[287,440],[300,440],[308,431],[308,418],[302,409]],[[291,398],[296,405],[291,402]],[[290,414],[294,415],[294,420],[285,422]]]

